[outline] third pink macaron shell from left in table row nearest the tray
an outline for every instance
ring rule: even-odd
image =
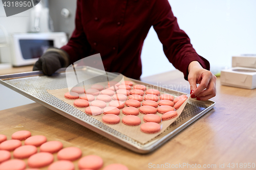
[[[63,148],[63,144],[60,141],[48,141],[40,146],[40,152],[56,153]]]

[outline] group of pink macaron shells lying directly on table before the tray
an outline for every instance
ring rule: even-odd
[[[22,145],[25,140],[25,145]],[[40,152],[37,153],[39,147]],[[14,159],[11,159],[13,151]],[[58,161],[54,162],[53,153],[57,153]],[[82,152],[79,148],[63,148],[60,141],[47,141],[42,135],[31,136],[29,131],[17,131],[12,134],[12,139],[7,140],[5,135],[0,134],[0,170],[24,170],[27,164],[24,160],[28,158],[28,166],[32,169],[38,169],[48,166],[49,170],[74,170],[75,166],[72,161],[79,159]],[[97,155],[87,155],[79,159],[79,169],[97,170],[103,166],[103,160]],[[110,164],[103,170],[128,170],[122,164]]]

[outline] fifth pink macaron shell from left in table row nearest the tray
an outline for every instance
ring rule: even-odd
[[[78,161],[79,169],[93,169],[98,170],[103,166],[103,160],[97,155],[88,155],[82,157]]]

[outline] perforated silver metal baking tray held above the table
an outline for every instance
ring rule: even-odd
[[[68,73],[66,73],[65,70],[66,68],[61,68],[52,76],[45,76],[42,74],[41,71],[31,71],[19,74],[4,75],[0,76],[0,83],[26,96],[27,98],[73,120],[74,122],[106,138],[109,138],[110,140],[122,145],[123,147],[141,154],[150,153],[156,150],[170,138],[174,137],[177,133],[182,131],[191,123],[195,122],[195,120],[197,120],[199,117],[207,113],[215,106],[215,102],[210,100],[197,101],[194,99],[190,99],[186,104],[184,110],[182,111],[181,115],[172,125],[170,125],[163,133],[161,133],[157,137],[143,144],[110,128],[108,125],[102,124],[98,120],[94,119],[92,116],[81,112],[73,106],[49,94],[46,90],[67,88],[66,74]],[[83,74],[91,74],[95,77],[97,77],[98,75],[102,75],[102,70],[89,66],[83,66],[80,70],[76,71],[83,71]],[[115,78],[116,74],[108,72],[108,76],[109,78]],[[98,77],[100,78],[100,76]],[[146,86],[151,85],[138,80],[132,80],[138,84],[143,84]],[[166,93],[170,93],[174,96],[186,94],[163,87],[158,87],[156,85],[152,86],[157,87],[159,91],[165,91]]]

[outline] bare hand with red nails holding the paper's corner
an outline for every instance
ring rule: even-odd
[[[216,96],[216,76],[204,69],[198,61],[188,65],[188,82],[191,98],[206,101]],[[199,86],[197,87],[197,84]]]

